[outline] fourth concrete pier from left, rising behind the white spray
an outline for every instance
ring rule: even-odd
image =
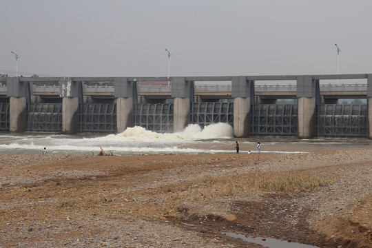
[[[194,82],[185,77],[172,77],[173,132],[181,132],[190,122],[190,100],[194,98]]]

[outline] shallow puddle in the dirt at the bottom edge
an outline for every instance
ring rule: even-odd
[[[251,242],[256,245],[262,245],[263,247],[268,247],[268,248],[319,248],[313,245],[303,245],[298,242],[282,241],[282,240],[277,240],[275,238],[261,238],[261,237],[251,238],[251,237],[245,236],[244,234],[236,234],[234,232],[223,232],[221,234],[224,234],[231,238],[241,238],[244,241]]]

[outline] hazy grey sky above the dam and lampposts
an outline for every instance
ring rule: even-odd
[[[0,74],[372,73],[371,0],[0,0]]]

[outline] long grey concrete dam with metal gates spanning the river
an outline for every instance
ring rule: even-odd
[[[363,83],[322,83],[339,79]],[[271,81],[285,83],[260,83]],[[0,83],[0,132],[119,133],[134,125],[180,132],[191,123],[222,122],[236,137],[372,138],[372,74],[16,77]]]

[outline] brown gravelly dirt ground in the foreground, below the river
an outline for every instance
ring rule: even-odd
[[[14,160],[24,156],[3,155],[0,247],[260,247],[224,232],[316,247],[372,247],[371,155],[370,149],[27,155],[29,160],[16,165]],[[294,193],[260,190],[214,196],[205,187],[206,180],[215,178],[280,172],[336,179]],[[208,194],[183,198],[201,188]]]

